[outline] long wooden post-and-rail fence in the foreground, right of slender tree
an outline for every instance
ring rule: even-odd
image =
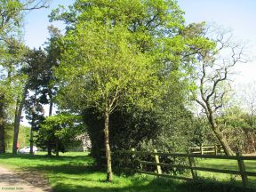
[[[183,153],[160,153],[157,152],[156,149],[154,152],[150,151],[135,151],[134,149],[130,150],[116,150],[114,151],[115,154],[130,154],[130,155],[138,155],[138,156],[155,156],[155,162],[148,162],[148,161],[139,161],[141,167],[143,164],[153,165],[156,166],[156,172],[146,172],[142,169],[138,170],[140,173],[155,175],[158,177],[168,177],[173,179],[179,180],[197,180],[197,172],[220,172],[220,173],[228,173],[234,175],[240,175],[243,181],[244,187],[248,187],[248,176],[256,177],[256,172],[246,172],[244,160],[256,160],[256,156],[242,156],[240,153],[236,153],[236,156],[220,156],[220,155],[201,155],[201,154],[183,154]],[[160,162],[159,156],[172,156],[172,157],[183,157],[188,159],[189,165],[180,165],[180,164],[164,164]],[[221,170],[216,168],[206,168],[206,167],[199,167],[196,166],[195,158],[207,158],[207,159],[227,159],[227,160],[236,160],[239,170]],[[183,177],[183,176],[176,176],[171,174],[165,174],[162,172],[163,167],[172,167],[184,170],[190,170],[192,177]]]

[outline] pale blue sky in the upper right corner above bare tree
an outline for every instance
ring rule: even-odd
[[[256,1],[254,0],[178,0],[188,22],[217,22],[233,28],[236,35],[254,37]],[[255,39],[254,39],[255,40]]]

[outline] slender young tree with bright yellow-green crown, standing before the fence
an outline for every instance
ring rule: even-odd
[[[68,36],[72,45],[58,68],[58,77],[64,82],[60,86],[65,97],[77,102],[79,108],[94,107],[104,116],[107,180],[112,181],[109,116],[117,106],[127,104],[124,100],[151,106],[161,82],[152,58],[129,44],[131,36],[126,28],[81,23],[76,30],[76,36]]]

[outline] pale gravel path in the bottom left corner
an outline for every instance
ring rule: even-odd
[[[33,175],[30,175],[33,177]],[[20,177],[19,172],[12,172],[0,166],[0,192],[49,192],[51,188],[41,188],[28,183]]]

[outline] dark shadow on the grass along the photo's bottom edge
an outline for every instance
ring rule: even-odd
[[[145,179],[148,180],[148,179]],[[145,180],[136,178],[126,187],[89,187],[83,185],[58,184],[54,187],[56,192],[255,192],[255,189],[242,188],[232,182],[217,182],[212,180],[197,180],[180,182],[177,180],[154,179],[145,185]]]

